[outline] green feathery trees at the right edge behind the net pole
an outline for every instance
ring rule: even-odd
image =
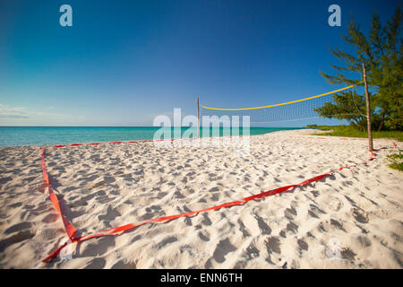
[[[373,20],[368,36],[360,30],[353,17],[348,23],[348,34],[342,36],[347,44],[354,47],[355,54],[348,54],[339,48],[330,48],[330,52],[339,60],[344,61],[346,66],[331,65],[338,74],[330,75],[321,72],[330,83],[356,84],[362,83],[362,63],[366,67],[367,82],[369,88],[375,91],[370,94],[371,99],[371,126],[377,130],[403,130],[403,59],[401,24],[403,14],[400,6],[396,9],[390,21],[382,26],[379,15],[373,13]],[[349,75],[356,73],[358,77],[351,78]],[[347,93],[335,95],[336,105],[327,104],[318,110],[322,117],[332,117],[335,113],[348,111]],[[350,95],[351,96],[351,95]],[[343,98],[344,97],[344,98]],[[364,95],[356,95],[359,99],[357,109],[361,114],[366,114],[365,106],[361,105]],[[339,102],[337,101],[339,100]],[[354,107],[353,107],[354,108]],[[356,116],[338,117],[347,121],[358,130],[362,130],[363,118],[356,112]]]

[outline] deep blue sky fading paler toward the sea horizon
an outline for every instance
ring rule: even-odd
[[[62,27],[62,4],[73,26]],[[331,27],[330,4],[341,26]],[[399,1],[0,1],[0,126],[152,126],[201,105],[249,108],[342,88],[351,14],[369,30]],[[334,73],[333,73],[334,74]],[[308,120],[269,126],[336,124]]]

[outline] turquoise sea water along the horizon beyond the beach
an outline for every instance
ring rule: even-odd
[[[0,126],[0,146],[152,140],[159,128],[155,126]],[[251,127],[250,135],[263,135],[296,128],[298,127]],[[171,138],[177,137],[174,135],[174,128],[170,129]],[[196,128],[192,127],[182,127],[181,135],[184,135],[186,131],[185,135],[189,135],[189,129],[194,132],[190,137],[196,137]],[[212,132],[210,128],[210,135]],[[219,134],[223,135],[222,127],[219,128]],[[242,128],[239,129],[239,134],[242,135]]]

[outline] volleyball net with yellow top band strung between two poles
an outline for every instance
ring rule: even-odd
[[[335,91],[319,95],[271,104],[254,108],[210,108],[201,105],[200,115],[203,116],[249,116],[251,124],[269,124],[286,121],[296,121],[306,118],[326,117],[343,119],[364,116],[364,98],[357,93],[360,83],[356,83]],[[323,116],[322,116],[323,117]],[[202,123],[202,122],[201,122]]]

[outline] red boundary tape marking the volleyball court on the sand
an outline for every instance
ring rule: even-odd
[[[173,139],[174,140],[174,139]],[[152,142],[152,141],[143,141],[143,142]],[[122,143],[122,142],[113,142],[113,143]],[[88,144],[99,144],[99,143],[88,143]],[[71,145],[81,145],[81,143],[73,143]],[[394,143],[394,145],[396,146],[396,143]],[[55,147],[60,147],[60,146],[55,146]],[[375,151],[380,151],[382,149],[386,149],[386,147],[382,147],[378,150]],[[111,228],[111,229],[107,229],[107,230],[102,230],[99,231],[98,233],[95,234],[89,234],[86,236],[76,236],[77,235],[77,230],[75,230],[75,228],[73,227],[73,224],[71,222],[68,221],[68,219],[64,216],[64,213],[62,212],[61,208],[60,208],[60,204],[59,201],[57,200],[57,196],[56,194],[53,192],[51,186],[50,186],[50,182],[49,182],[49,178],[47,175],[47,168],[46,168],[46,163],[45,163],[45,155],[44,155],[44,151],[42,148],[40,148],[40,153],[41,153],[41,161],[42,161],[42,171],[43,171],[43,177],[45,179],[47,188],[48,188],[48,192],[49,192],[49,197],[50,200],[52,202],[52,204],[55,206],[57,212],[61,215],[63,223],[64,223],[64,230],[67,233],[67,236],[69,237],[69,241],[66,241],[63,245],[59,246],[58,248],[56,248],[55,251],[53,251],[51,254],[49,254],[47,257],[45,257],[44,259],[42,259],[42,262],[46,262],[46,263],[50,263],[53,259],[55,259],[60,251],[67,246],[68,244],[74,243],[74,242],[83,242],[89,239],[94,239],[94,238],[99,238],[99,237],[105,237],[105,236],[116,236],[116,235],[120,235],[122,233],[124,233],[125,231],[128,230],[133,230],[136,227],[139,227],[141,225],[144,224],[148,224],[148,223],[157,223],[157,222],[170,222],[172,220],[175,220],[177,218],[180,217],[193,217],[196,216],[199,213],[204,213],[204,212],[208,212],[211,210],[219,210],[221,208],[224,207],[231,207],[231,206],[235,206],[235,205],[243,205],[251,200],[258,200],[258,199],[262,199],[263,197],[267,197],[267,196],[274,196],[277,195],[283,191],[287,191],[290,189],[294,189],[295,187],[304,187],[307,186],[315,181],[321,180],[322,178],[328,177],[331,174],[335,173],[335,170],[330,170],[327,173],[321,174],[319,176],[316,176],[314,178],[309,178],[307,180],[304,180],[303,182],[296,184],[296,185],[289,185],[286,187],[279,187],[279,188],[275,188],[275,189],[271,189],[265,192],[262,192],[260,194],[257,195],[253,195],[253,196],[248,196],[248,197],[244,197],[241,200],[237,200],[237,201],[233,201],[230,203],[225,203],[225,204],[219,204],[219,205],[215,205],[215,206],[211,206],[208,208],[204,208],[198,211],[193,211],[193,212],[189,212],[189,213],[180,213],[180,214],[176,214],[176,215],[169,215],[169,216],[162,216],[162,217],[158,217],[158,218],[153,218],[150,219],[148,221],[145,222],[140,222],[140,223],[129,223],[129,224],[125,224],[123,226],[119,226],[116,228]],[[373,152],[371,152],[373,155],[373,158],[368,159],[368,161],[373,161],[375,158],[375,154]],[[363,161],[362,164],[365,164],[366,161]],[[346,167],[341,167],[339,168],[339,170],[344,170],[344,169],[350,169],[356,167],[356,165],[351,165],[351,166],[346,166]]]

